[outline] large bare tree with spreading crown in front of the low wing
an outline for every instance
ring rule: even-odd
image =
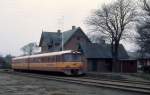
[[[117,0],[97,9],[87,20],[94,31],[99,31],[110,41],[114,60],[118,59],[120,40],[127,37],[128,27],[135,21],[136,15],[131,0]]]

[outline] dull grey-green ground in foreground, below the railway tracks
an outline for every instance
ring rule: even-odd
[[[0,95],[145,95],[0,72]]]

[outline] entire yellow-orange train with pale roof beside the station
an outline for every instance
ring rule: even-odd
[[[80,52],[66,50],[13,58],[12,69],[81,75],[86,72],[86,63],[83,60]]]

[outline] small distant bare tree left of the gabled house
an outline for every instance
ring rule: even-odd
[[[38,45],[35,42],[29,43],[21,48],[24,55],[32,55],[38,49]]]

